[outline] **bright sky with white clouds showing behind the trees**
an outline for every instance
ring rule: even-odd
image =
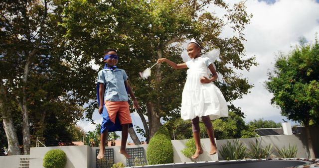
[[[239,0],[225,1],[232,5]],[[259,65],[251,67],[249,72],[237,71],[254,87],[250,89],[250,93],[233,103],[245,113],[245,122],[260,118],[275,122],[288,120],[280,115],[278,107],[270,103],[273,96],[265,89],[264,82],[268,80],[267,72],[273,69],[279,52],[289,54],[292,47],[299,44],[300,38],[315,41],[315,34],[319,33],[319,0],[247,0],[245,5],[247,12],[253,14],[250,24],[244,30],[247,40],[244,42],[246,55],[255,56]],[[219,16],[224,12],[213,6],[207,10]],[[226,26],[221,37],[233,35],[232,29]],[[93,120],[96,123],[102,122],[97,110]],[[137,113],[132,114],[132,121],[134,125],[143,128]],[[79,121],[78,125],[85,131],[95,129],[95,125],[86,121]]]

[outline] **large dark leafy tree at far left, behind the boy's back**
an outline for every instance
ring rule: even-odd
[[[65,47],[65,29],[58,25],[63,5],[58,2],[0,2],[0,112],[11,151],[19,145],[12,114],[21,115],[24,153],[28,154],[35,136],[54,134],[55,128],[66,128],[83,112],[93,110],[89,100],[95,97],[94,83],[90,83],[94,76],[86,75],[93,70]],[[84,109],[84,103],[89,107]],[[87,118],[91,117],[89,113]]]

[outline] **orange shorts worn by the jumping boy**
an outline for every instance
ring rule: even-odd
[[[109,101],[105,100],[105,107],[109,113],[109,117],[115,123],[116,115],[119,115],[121,124],[131,124],[130,105],[128,101]]]

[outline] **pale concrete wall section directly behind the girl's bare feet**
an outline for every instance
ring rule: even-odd
[[[187,140],[172,140],[171,143],[173,145],[174,150],[174,163],[184,163],[184,162],[193,162],[191,159],[186,158],[184,154],[181,153],[181,150],[186,148]],[[204,162],[204,161],[218,161],[218,153],[215,155],[208,155],[210,152],[210,141],[208,138],[200,139],[202,149],[204,151],[203,154],[199,155],[196,159],[196,162]],[[218,142],[216,142],[218,143]]]

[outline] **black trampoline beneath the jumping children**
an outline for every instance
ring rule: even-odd
[[[317,164],[315,164],[317,163]],[[311,165],[313,164],[313,165]],[[306,166],[307,167],[304,167]],[[148,165],[144,168],[312,168],[319,167],[318,160],[309,161],[307,159],[295,160],[235,160],[235,161],[210,161],[191,162],[178,164]],[[139,167],[135,167],[139,168]]]

